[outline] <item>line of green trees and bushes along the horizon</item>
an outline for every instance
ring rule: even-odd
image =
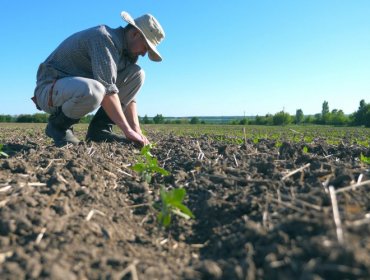
[[[17,123],[46,123],[49,114],[23,114],[18,116],[0,115],[0,122],[17,122]],[[82,123],[89,123],[93,115],[86,115],[81,119]],[[200,117],[176,118],[168,119],[162,114],[157,114],[153,118],[147,115],[139,117],[143,124],[204,124],[205,121]],[[209,122],[208,122],[209,123]],[[345,115],[342,110],[333,109],[330,111],[329,103],[324,101],[322,104],[321,113],[315,115],[304,115],[301,109],[296,110],[295,115],[290,115],[284,110],[276,114],[266,114],[265,116],[244,117],[238,120],[231,120],[230,124],[240,125],[288,125],[288,124],[323,124],[323,125],[339,125],[339,126],[366,126],[370,127],[370,103],[365,100],[360,101],[357,111],[350,115]]]

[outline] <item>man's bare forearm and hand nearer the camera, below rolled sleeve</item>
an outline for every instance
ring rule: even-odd
[[[101,105],[110,119],[123,131],[128,139],[146,145],[146,138],[143,138],[141,133],[136,132],[127,122],[117,94],[105,95]]]

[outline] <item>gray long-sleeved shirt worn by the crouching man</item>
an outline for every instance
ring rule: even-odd
[[[122,27],[100,25],[68,37],[40,64],[35,91],[56,79],[77,76],[99,81],[107,94],[118,93],[117,72],[131,63],[124,56],[124,33]]]

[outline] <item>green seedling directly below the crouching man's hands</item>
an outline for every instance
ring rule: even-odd
[[[132,170],[141,174],[141,177],[148,183],[151,182],[152,176],[156,173],[162,174],[164,176],[169,175],[170,173],[161,168],[158,165],[158,160],[151,154],[150,149],[152,145],[145,145],[141,151],[141,161],[132,166]]]

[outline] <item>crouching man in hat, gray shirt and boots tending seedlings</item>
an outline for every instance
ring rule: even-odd
[[[125,28],[101,25],[75,33],[39,66],[32,100],[50,113],[45,133],[56,146],[78,144],[72,125],[99,106],[87,141],[149,143],[137,115],[135,96],[145,75],[136,62],[147,52],[152,61],[162,60],[156,47],[164,31],[150,14],[134,20],[122,12],[121,17]],[[125,137],[113,133],[113,124]]]

